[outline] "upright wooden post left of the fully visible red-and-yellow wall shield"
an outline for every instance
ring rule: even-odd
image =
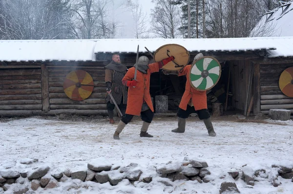
[[[50,110],[49,101],[49,71],[45,64],[41,65],[41,81],[42,81],[42,111],[48,112]]]

